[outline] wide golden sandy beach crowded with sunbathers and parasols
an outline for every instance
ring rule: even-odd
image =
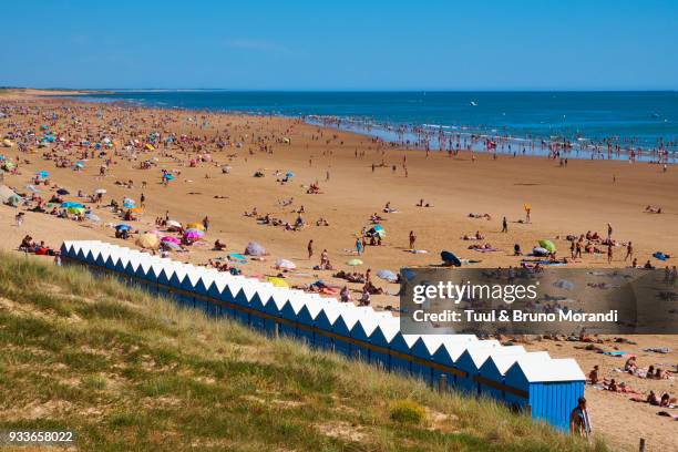
[[[571,158],[562,166],[546,157],[493,158],[468,152],[427,155],[296,119],[88,104],[43,94],[0,95],[0,111],[4,113],[0,134],[11,135],[11,147],[0,147],[0,154],[16,164],[14,172],[4,173],[2,184],[28,196],[31,192],[27,185],[34,185],[39,191],[34,196],[44,202],[56,189],[65,188],[70,195],[62,196],[62,201],[84,204],[100,222],[75,222],[49,212],[27,212],[31,206],[17,209],[3,205],[0,234],[4,238],[0,245],[7,249],[17,249],[27,234],[52,247],[65,239],[99,239],[136,247],[136,234],[127,240],[115,238],[113,226],[123,222],[106,206],[112,199],[122,205],[124,197],[141,205],[143,194],[143,214],[137,220],[124,222],[135,232],[163,229],[156,224],[158,217],[183,225],[208,217],[204,240],[186,247],[187,253],[172,253],[173,259],[207,265],[209,259],[240,254],[248,243],[256,242],[266,248],[267,256],[237,265],[244,274],[275,277],[280,273],[273,268],[276,260],[285,258],[297,267],[285,274],[287,284],[304,288],[321,279],[336,286],[335,291],[347,285],[352,300],[357,300],[363,285],[347,284],[332,275],[339,270],[364,274],[369,268],[374,286],[384,291],[372,295],[371,304],[383,308],[398,307],[398,285],[377,278],[377,271],[398,273],[401,267],[440,264],[441,250],[451,250],[462,260],[477,260],[470,265],[479,268],[516,267],[524,256],[514,255],[515,244],[527,253],[540,239],[551,239],[558,248],[556,258],[568,258],[567,267],[626,267],[633,258],[639,266],[648,260],[659,268],[676,265],[676,258],[666,263],[653,258],[656,251],[670,256],[678,253],[678,171],[672,166],[664,172],[656,164],[623,161]],[[45,131],[58,140],[39,147],[38,137]],[[152,133],[175,140],[151,146],[147,144]],[[94,148],[94,143],[104,137],[111,140],[111,146]],[[81,145],[83,141],[90,146]],[[65,167],[56,167],[60,161],[68,162]],[[75,171],[78,161],[82,168]],[[162,183],[162,170],[173,179]],[[48,185],[35,185],[40,171],[49,172]],[[263,177],[254,177],[257,172]],[[294,176],[286,177],[287,173]],[[311,185],[317,185],[318,193],[308,193]],[[76,196],[79,191],[89,196],[100,188],[105,189],[100,204]],[[418,206],[421,201],[423,206]],[[397,212],[384,212],[387,204]],[[531,206],[528,223],[525,205]],[[661,208],[661,213],[646,212],[647,206]],[[255,207],[257,215],[244,215]],[[14,220],[18,210],[25,212],[20,227]],[[266,214],[279,218],[282,225],[263,224]],[[357,256],[357,236],[371,227],[372,215],[381,217],[379,224],[386,236],[381,245],[371,246],[368,240],[364,253]],[[294,225],[299,216],[305,226],[286,230],[284,224]],[[503,217],[507,220],[505,233]],[[323,222],[327,226],[318,225]],[[571,258],[568,235],[597,232],[606,237],[608,224],[617,244],[610,264],[607,246],[593,243],[592,247],[602,253]],[[420,253],[410,250],[410,232],[415,236],[413,248]],[[462,238],[476,234],[483,238]],[[226,245],[225,250],[212,249],[216,239]],[[625,259],[628,242],[633,243],[633,257]],[[485,244],[495,250],[469,248]],[[325,249],[333,270],[314,268],[320,265]],[[363,264],[349,267],[347,261],[355,258]],[[600,347],[635,353],[640,367],[678,370],[678,337],[627,338],[636,343],[605,339],[609,341]],[[616,368],[624,367],[625,358],[579,348],[584,346],[554,340],[527,345],[531,350],[548,350],[554,357],[576,358],[586,373],[599,364],[602,377],[625,381],[643,399],[650,389],[658,394],[678,394],[678,373],[670,373],[667,380],[648,380],[616,372]],[[649,347],[667,347],[671,351],[643,351]],[[628,393],[593,387],[587,387],[586,396],[596,430],[614,444],[633,449],[638,438],[645,438],[649,451],[677,450],[671,438],[678,433],[678,422],[657,415],[659,408],[633,402]],[[672,412],[678,414],[677,410]]]

